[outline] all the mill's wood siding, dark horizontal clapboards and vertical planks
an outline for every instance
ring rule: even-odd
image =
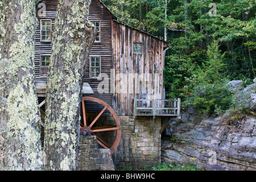
[[[53,30],[58,1],[42,2],[46,4],[47,12],[45,17],[37,16],[39,22],[36,29],[35,43],[35,75],[37,82],[46,82],[46,77],[40,76],[40,55],[51,55],[52,46],[51,42],[40,42],[40,20],[50,19]],[[37,15],[39,9],[36,7]],[[98,93],[97,87],[103,80],[90,78],[90,61],[88,60],[84,82],[90,84],[94,94],[85,96],[96,97],[105,101],[114,107],[118,115],[133,115],[133,99],[135,97],[138,99],[162,99],[163,40],[117,22],[115,16],[99,0],[92,0],[89,9],[89,20],[100,22],[101,41],[94,43],[90,56],[101,57],[101,75],[108,75],[108,79],[104,81],[108,84],[109,93]],[[142,43],[142,53],[133,52],[134,43]],[[113,75],[112,71],[114,71]],[[119,73],[123,75],[121,78],[116,78]],[[140,77],[134,77],[132,75],[134,73]],[[143,75],[143,73],[151,75]],[[159,77],[156,77],[155,74],[159,74]],[[121,86],[120,83],[122,83]],[[138,83],[138,87],[136,83]],[[115,92],[115,88],[118,87],[121,93]],[[90,102],[86,105],[88,112],[100,112],[103,108]],[[143,105],[150,107],[148,102]]]

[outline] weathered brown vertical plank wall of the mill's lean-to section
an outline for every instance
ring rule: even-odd
[[[163,41],[115,20],[112,34],[115,76],[123,74],[115,79],[113,106],[118,115],[133,115],[135,97],[163,98]],[[134,43],[142,43],[142,53],[133,52]]]

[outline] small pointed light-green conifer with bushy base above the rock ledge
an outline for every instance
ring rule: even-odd
[[[193,92],[193,105],[202,112],[220,112],[228,109],[231,104],[230,92],[226,86],[228,81],[222,78],[224,55],[221,55],[218,48],[218,43],[214,40],[208,46],[206,64],[197,73],[198,84]]]

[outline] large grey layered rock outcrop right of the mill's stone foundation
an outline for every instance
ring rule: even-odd
[[[205,170],[256,170],[256,119],[208,118],[196,111],[171,119],[162,135],[162,161]]]

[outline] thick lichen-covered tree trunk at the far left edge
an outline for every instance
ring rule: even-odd
[[[41,170],[34,0],[0,1],[0,170]]]

